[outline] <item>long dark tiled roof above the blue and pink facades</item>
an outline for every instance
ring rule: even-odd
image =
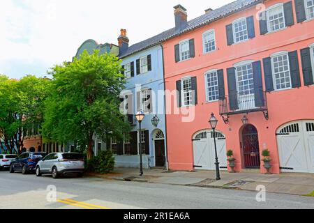
[[[147,40],[144,40],[140,43],[136,43],[128,47],[128,50],[123,54],[120,54],[120,58],[124,58],[126,56],[130,56],[131,54],[135,54],[136,52],[140,52],[149,47],[153,47],[160,43],[163,43],[165,40],[169,40],[170,38],[174,38],[188,31],[192,31],[193,29],[197,29],[201,26],[205,26],[210,24],[211,22],[215,22],[227,15],[232,15],[234,13],[239,12],[239,10],[243,10],[245,8],[249,8],[251,6],[257,5],[257,3],[262,2],[263,0],[237,0],[232,3],[228,3],[225,6],[217,8],[216,10],[212,10],[211,12],[201,15],[193,20],[188,21],[188,25],[185,29],[181,31],[176,31],[175,28],[164,31],[163,33],[158,34],[157,36],[151,37]]]

